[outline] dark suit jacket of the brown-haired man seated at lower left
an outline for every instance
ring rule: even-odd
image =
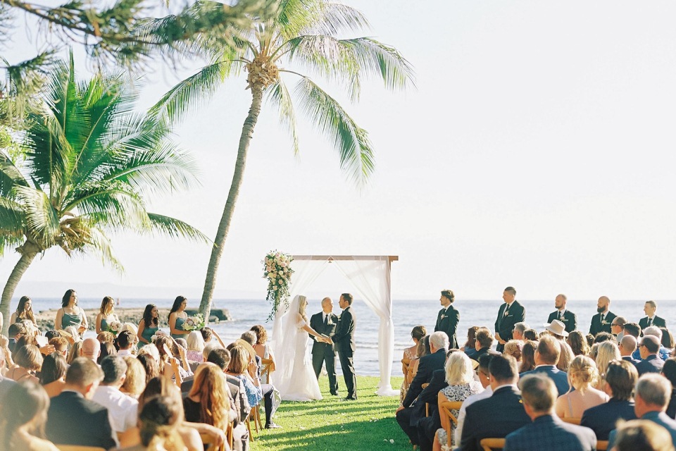
[[[108,409],[71,391],[51,398],[44,431],[58,445],[98,446],[106,450],[118,445],[108,421]]]

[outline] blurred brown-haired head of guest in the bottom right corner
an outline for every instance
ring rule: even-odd
[[[616,451],[674,451],[671,435],[649,420],[630,420],[618,426]]]

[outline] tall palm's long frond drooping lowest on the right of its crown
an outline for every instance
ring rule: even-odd
[[[309,78],[296,85],[301,111],[323,135],[333,140],[338,151],[340,168],[363,185],[373,173],[373,148],[368,133],[353,121],[340,104]]]

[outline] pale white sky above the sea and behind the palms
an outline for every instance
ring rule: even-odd
[[[351,0],[415,68],[415,87],[377,80],[358,104],[314,78],[368,130],[376,172],[364,190],[329,140],[300,123],[299,157],[263,108],[218,272],[216,296],[265,297],[261,260],[289,254],[397,255],[394,299],[675,299],[676,4],[668,1]],[[30,30],[29,30],[30,31]],[[16,32],[8,55],[34,49]],[[15,61],[18,61],[15,60]],[[80,56],[80,74],[87,62]],[[181,76],[157,64],[139,108]],[[175,130],[201,186],[150,202],[215,234],[251,94],[228,80]],[[49,287],[198,302],[208,245],[115,235],[125,266],[51,249],[15,296]],[[18,256],[0,259],[0,280]],[[86,292],[78,287],[86,287]],[[105,287],[105,288],[104,288]],[[308,294],[351,290],[330,270]],[[101,292],[108,290],[108,292]],[[46,295],[46,293],[41,293]]]

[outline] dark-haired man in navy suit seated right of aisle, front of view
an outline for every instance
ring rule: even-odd
[[[516,361],[512,357],[496,355],[488,370],[493,395],[467,408],[461,435],[463,451],[480,451],[482,438],[503,438],[530,423],[516,387],[519,378]]]

